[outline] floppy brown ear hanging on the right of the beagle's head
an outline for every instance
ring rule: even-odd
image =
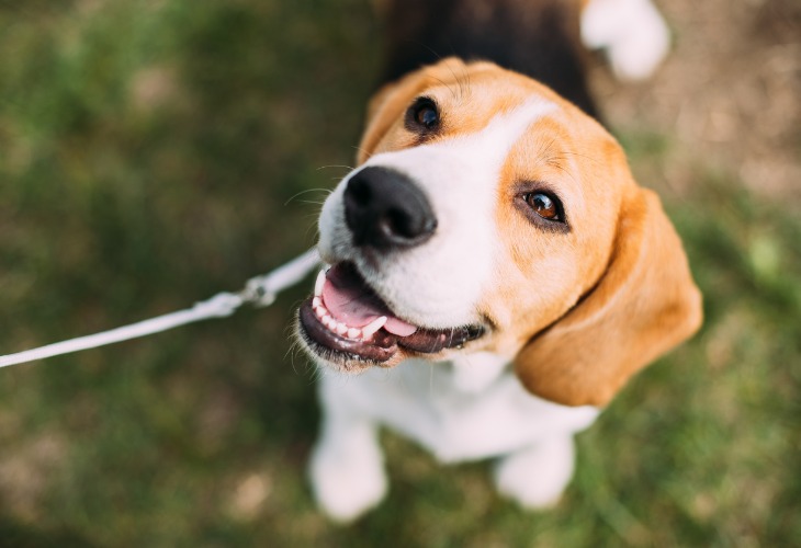
[[[519,352],[516,372],[539,397],[605,406],[629,377],[695,333],[701,318],[701,294],[659,198],[635,187],[606,273]]]

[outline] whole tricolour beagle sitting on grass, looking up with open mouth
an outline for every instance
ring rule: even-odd
[[[391,20],[404,26],[416,3],[430,18],[438,2],[398,1]],[[528,2],[519,18],[498,10],[522,9],[520,0],[461,4],[492,12],[480,18],[483,28],[494,16],[519,20],[544,25],[533,34],[552,41],[562,26],[543,5],[569,7],[575,25],[564,28],[577,35],[586,2]],[[646,0],[584,5],[582,30],[595,45],[622,39],[586,20],[601,4],[656,13]],[[627,20],[614,15],[614,24]],[[470,32],[455,22],[475,18],[462,10],[440,22],[464,38]],[[421,26],[407,24],[405,36]],[[486,38],[476,36],[464,47]],[[577,39],[556,42],[567,53],[543,46],[543,56],[580,59]],[[392,44],[390,73],[410,62],[403,48],[393,53],[398,39]],[[470,60],[482,52],[467,49],[456,53],[469,60],[411,69],[375,94],[359,167],[319,217],[327,267],[298,310],[297,332],[321,370],[313,489],[340,522],[386,493],[381,426],[442,463],[494,458],[500,493],[528,509],[554,504],[573,473],[573,435],[701,323],[681,242],[659,198],[634,182],[620,145],[591,117],[583,72],[540,58],[533,69],[516,67],[509,49],[496,59],[510,70]],[[622,75],[648,71],[614,47],[608,54]],[[662,54],[651,56],[651,69]]]

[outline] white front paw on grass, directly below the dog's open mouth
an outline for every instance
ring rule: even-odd
[[[328,516],[352,522],[386,494],[387,482],[377,445],[372,439],[350,444],[320,443],[312,455],[309,476],[315,499]],[[372,437],[372,436],[371,436]]]

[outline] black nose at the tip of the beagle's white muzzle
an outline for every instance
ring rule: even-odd
[[[365,168],[345,189],[345,220],[356,246],[388,250],[426,241],[437,218],[422,191],[406,175]]]

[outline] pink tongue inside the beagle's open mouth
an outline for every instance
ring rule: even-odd
[[[323,302],[337,320],[351,328],[363,328],[374,319],[386,316],[384,329],[390,333],[408,336],[417,331],[417,327],[395,318],[360,279],[343,274],[337,266],[326,274]]]

